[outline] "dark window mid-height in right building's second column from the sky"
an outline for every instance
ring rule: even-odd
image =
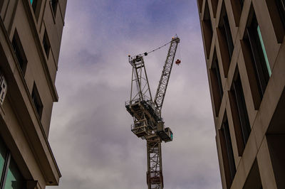
[[[231,90],[229,91],[229,102],[232,110],[232,119],[234,122],[234,133],[237,140],[237,150],[239,156],[244,153],[244,146],[247,144],[251,127],[247,114],[247,106],[244,100],[244,92],[242,91],[242,82],[239,74],[232,82]]]

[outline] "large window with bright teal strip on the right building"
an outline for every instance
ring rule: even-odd
[[[257,23],[257,17],[254,13],[252,15],[251,21],[248,22],[246,33],[244,34],[244,45],[247,45],[247,47],[245,48],[250,51],[249,56],[251,60],[249,60],[248,58],[248,60],[246,61],[252,63],[252,68],[254,70],[253,74],[257,81],[257,88],[259,94],[254,95],[258,96],[254,98],[259,98],[255,100],[258,102],[255,104],[255,108],[259,109],[261,99],[264,96],[264,92],[266,90],[266,86],[271,75],[271,68],[266,55],[266,50],[264,48],[260,28]]]

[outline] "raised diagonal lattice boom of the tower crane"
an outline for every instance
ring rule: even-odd
[[[172,41],[170,43],[170,48],[168,50],[167,57],[165,60],[165,65],[163,66],[160,82],[158,83],[154,102],[156,106],[156,112],[159,116],[161,116],[162,104],[163,100],[165,99],[165,93],[167,90],[168,81],[170,79],[170,73],[172,70],[172,65],[174,62],[178,43],[180,43],[180,38],[178,37],[172,38]]]

